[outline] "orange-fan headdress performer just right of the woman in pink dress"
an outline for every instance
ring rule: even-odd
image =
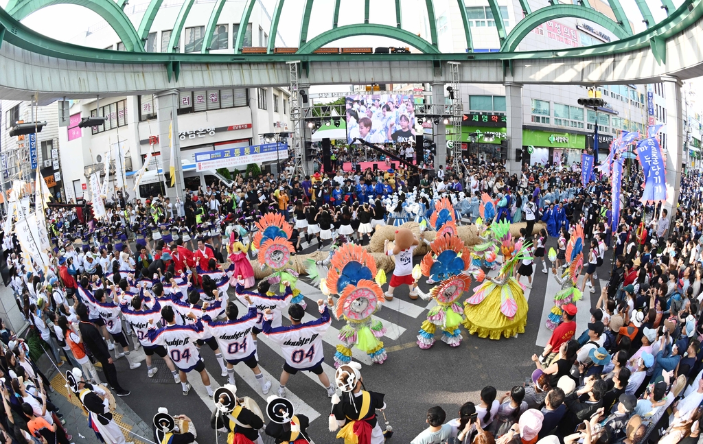
[[[290,282],[290,288],[293,292],[293,298],[290,303],[297,303],[302,308],[306,308],[304,296],[299,289],[295,288],[298,282],[298,273],[289,268],[291,254],[295,253],[295,247],[288,240],[292,235],[292,227],[290,223],[285,221],[283,214],[266,213],[256,223],[259,231],[254,235],[252,246],[254,250],[258,250],[259,265],[262,270],[269,267],[273,270],[269,276],[269,284],[279,284],[278,293],[285,293],[285,285],[283,282]],[[236,276],[235,273],[233,276]],[[276,292],[269,291],[268,296],[275,295]]]

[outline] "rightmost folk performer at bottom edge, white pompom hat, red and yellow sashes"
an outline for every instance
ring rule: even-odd
[[[383,444],[383,431],[378,425],[376,410],[384,410],[384,394],[363,390],[361,364],[354,361],[340,365],[335,372],[337,388],[342,396],[332,398],[330,431],[342,427],[337,438],[344,438],[344,444],[370,443]]]

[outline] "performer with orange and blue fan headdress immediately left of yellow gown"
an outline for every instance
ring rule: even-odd
[[[439,285],[428,294],[420,292],[420,297],[434,299],[437,305],[430,309],[427,320],[420,327],[418,346],[432,347],[434,332],[439,326],[441,340],[456,347],[461,344],[459,325],[463,321],[463,310],[457,301],[471,284],[471,278],[465,274],[471,265],[471,252],[458,236],[452,235],[435,237],[430,249],[432,252],[425,254],[419,268],[428,281],[439,282]],[[479,272],[483,273],[480,268]]]

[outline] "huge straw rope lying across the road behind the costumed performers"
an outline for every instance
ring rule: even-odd
[[[512,223],[510,224],[510,234],[512,237],[520,237],[520,228],[524,228],[527,226],[527,223],[521,222],[521,223]],[[404,228],[410,228],[410,230],[413,232],[415,235],[420,235],[420,224],[417,222],[406,222],[403,224]],[[392,261],[392,259],[389,256],[386,256],[383,254],[383,242],[385,240],[394,240],[395,239],[395,230],[397,227],[394,226],[380,226],[376,227],[375,232],[373,233],[373,236],[371,236],[371,240],[368,245],[366,245],[366,249],[370,252],[371,256],[373,256],[373,259],[376,261],[376,266],[378,268],[382,268],[383,270],[386,271],[386,273],[389,273],[393,268],[395,267],[395,263]],[[546,228],[546,224],[543,222],[538,222],[534,226],[534,233],[539,233],[539,230],[542,228]],[[472,246],[481,243],[481,239],[478,237],[476,231],[476,226],[475,225],[470,225],[470,226],[459,226],[458,227],[459,231],[459,237],[461,240],[464,241],[464,243],[467,246]],[[434,240],[434,236],[437,235],[436,232],[434,231],[426,231],[425,232],[425,239],[428,241],[432,242]],[[413,251],[413,256],[425,256],[425,253],[427,253],[428,248],[425,242],[420,242],[420,245],[415,248]],[[314,259],[315,261],[322,261],[323,259],[326,259],[328,256],[328,252],[314,252],[310,254],[297,254],[295,256],[291,256],[290,258],[290,265],[288,268],[292,268],[292,270],[295,270],[297,273],[300,274],[305,274],[307,273],[307,259]],[[267,276],[270,276],[271,273],[273,273],[273,270],[271,268],[266,268],[266,270],[262,270],[261,266],[259,266],[258,261],[250,260],[252,264],[252,268],[254,268],[254,278],[257,279],[262,279],[266,278]]]

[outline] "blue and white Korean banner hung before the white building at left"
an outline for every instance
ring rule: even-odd
[[[231,168],[248,164],[259,164],[273,160],[288,159],[287,143],[265,143],[226,150],[205,151],[195,153],[195,169]]]

